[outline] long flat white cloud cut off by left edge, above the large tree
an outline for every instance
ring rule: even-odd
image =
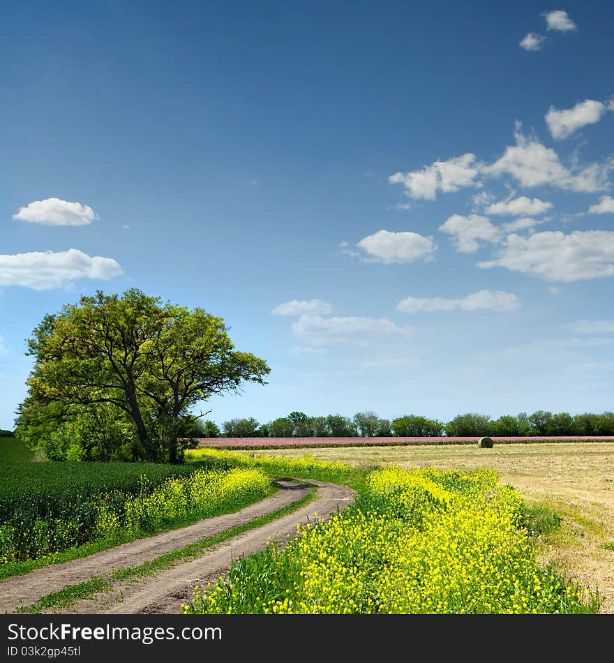
[[[33,290],[61,288],[79,278],[107,281],[123,274],[112,258],[91,258],[76,248],[0,255],[0,285],[24,285]]]

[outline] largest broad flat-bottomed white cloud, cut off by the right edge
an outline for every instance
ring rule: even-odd
[[[614,276],[614,232],[536,232],[526,238],[510,234],[495,260],[478,262],[477,266],[505,267],[564,283]]]

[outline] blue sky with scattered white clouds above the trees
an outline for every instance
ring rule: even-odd
[[[614,407],[614,6],[2,3],[0,428],[81,294],[220,315],[221,424]]]

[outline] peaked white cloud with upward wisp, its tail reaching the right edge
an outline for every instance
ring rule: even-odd
[[[548,184],[583,193],[608,188],[608,173],[614,167],[614,161],[591,163],[584,168],[574,165],[574,169],[569,170],[550,147],[521,135],[519,131],[515,136],[516,145],[508,146],[495,163],[483,166],[483,174],[495,177],[509,174],[526,187]]]

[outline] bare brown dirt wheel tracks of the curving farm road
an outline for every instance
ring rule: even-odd
[[[241,509],[179,530],[165,532],[147,539],[137,539],[107,551],[65,564],[36,569],[23,576],[0,582],[0,612],[12,613],[20,606],[29,606],[41,596],[57,592],[77,583],[89,581],[93,575],[107,575],[117,569],[134,567],[186,544],[199,541],[264,516],[297,502],[308,487],[293,482],[278,482],[280,491],[274,496]],[[194,585],[215,581],[230,569],[232,560],[262,550],[267,541],[285,542],[296,535],[297,524],[327,519],[338,509],[352,502],[356,493],[345,486],[310,481],[317,486],[317,497],[306,507],[283,516],[255,530],[228,539],[216,549],[196,560],[179,563],[141,582],[115,583],[112,593],[95,599],[82,600],[70,613],[179,613],[181,603],[190,599]],[[120,600],[123,599],[123,600]],[[120,602],[117,602],[120,600]]]

